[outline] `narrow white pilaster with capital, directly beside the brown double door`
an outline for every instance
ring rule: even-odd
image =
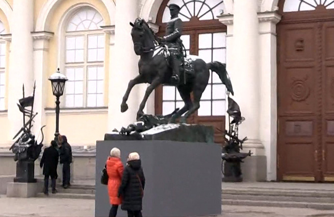
[[[276,24],[280,15],[264,12],[260,21],[260,138],[267,156],[267,180],[276,180],[277,58]]]

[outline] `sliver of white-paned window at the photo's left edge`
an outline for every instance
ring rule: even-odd
[[[0,34],[5,34],[4,23],[0,21]],[[6,85],[6,41],[0,40],[0,110],[5,110]]]

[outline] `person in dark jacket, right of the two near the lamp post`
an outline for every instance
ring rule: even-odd
[[[70,185],[71,172],[70,164],[72,162],[72,148],[67,142],[67,137],[59,135],[59,151],[60,151],[60,163],[63,164],[63,188],[68,188]]]

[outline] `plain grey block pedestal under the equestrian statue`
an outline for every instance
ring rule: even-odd
[[[101,170],[110,150],[121,150],[125,165],[138,152],[146,178],[143,216],[180,217],[221,213],[221,147],[215,143],[162,140],[106,140],[96,144],[95,216],[108,216],[107,185]],[[119,208],[117,216],[127,216]]]

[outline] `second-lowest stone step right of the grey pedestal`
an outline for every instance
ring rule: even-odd
[[[327,203],[334,206],[332,197],[310,197],[310,196],[268,196],[268,195],[231,195],[222,194],[223,200],[251,200],[251,201],[278,201],[278,202],[304,202],[304,203]]]

